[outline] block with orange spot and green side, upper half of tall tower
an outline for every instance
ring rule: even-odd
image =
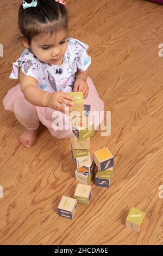
[[[79,139],[83,141],[84,139],[90,138],[94,134],[94,125],[90,124],[88,127],[85,127],[84,123],[76,123],[72,127],[72,132]]]

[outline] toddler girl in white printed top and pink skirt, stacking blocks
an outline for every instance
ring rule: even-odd
[[[65,126],[69,124],[65,106],[72,110],[73,97],[67,92],[83,92],[84,104],[91,105],[91,112],[104,110],[103,101],[88,77],[91,57],[86,50],[89,46],[68,37],[63,0],[23,1],[18,25],[26,48],[12,64],[9,78],[19,77],[20,84],[8,91],[3,104],[24,126],[20,143],[32,147],[40,121],[53,136],[71,137],[71,129],[53,129],[57,113],[64,115]]]

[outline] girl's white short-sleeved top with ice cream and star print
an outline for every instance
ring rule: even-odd
[[[20,66],[26,76],[34,77],[38,87],[46,92],[71,92],[74,86],[77,69],[85,71],[91,64],[91,57],[86,50],[88,45],[68,38],[67,50],[61,65],[41,62],[27,48],[20,58],[12,64],[13,70],[9,78],[17,79]]]

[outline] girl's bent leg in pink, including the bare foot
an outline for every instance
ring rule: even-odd
[[[39,128],[39,118],[35,107],[23,97],[18,98],[14,104],[14,113],[17,120],[25,127],[20,136],[20,143],[30,148],[35,141]]]

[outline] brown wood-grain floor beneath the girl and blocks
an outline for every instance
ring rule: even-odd
[[[109,189],[92,184],[89,206],[74,219],[57,215],[63,195],[73,197],[77,181],[69,139],[55,139],[41,126],[34,147],[23,148],[23,127],[2,99],[18,81],[9,80],[21,53],[13,50],[17,11],[1,0],[1,245],[162,245],[163,199],[163,5],[143,0],[67,0],[70,36],[90,46],[90,77],[111,111],[111,135],[91,139],[91,153],[108,147],[115,157]],[[22,48],[23,49],[23,48]],[[147,213],[138,234],[125,227],[130,208]]]

